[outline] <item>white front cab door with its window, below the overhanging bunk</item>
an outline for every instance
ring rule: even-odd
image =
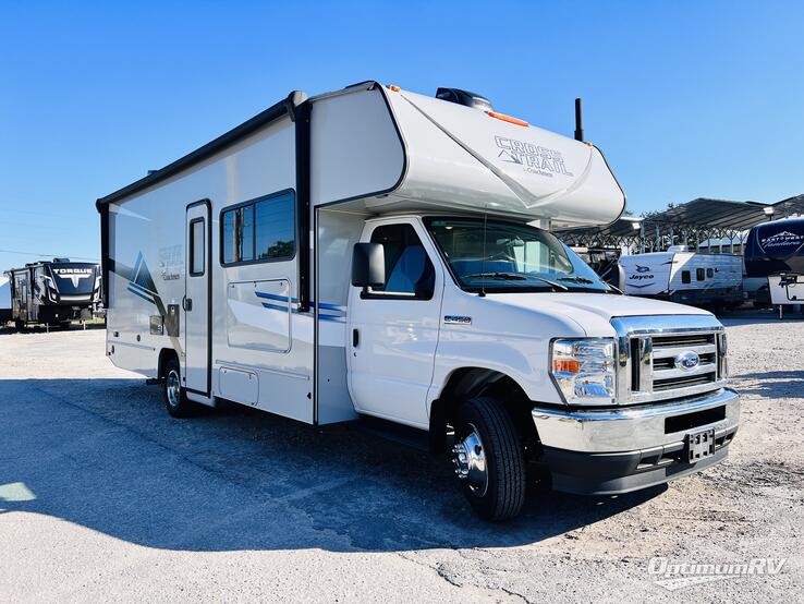
[[[440,326],[443,275],[414,220],[378,222],[363,241],[381,243],[386,282],[349,302],[349,387],[355,409],[426,427]]]

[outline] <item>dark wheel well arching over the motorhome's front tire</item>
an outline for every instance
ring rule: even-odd
[[[538,440],[536,426],[531,419],[531,401],[515,379],[504,373],[483,369],[463,367],[454,371],[441,396],[430,406],[430,450],[441,452],[447,446],[448,426],[453,424],[461,401],[480,396],[499,399],[513,418],[525,440]]]

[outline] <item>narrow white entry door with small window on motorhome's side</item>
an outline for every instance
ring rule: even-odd
[[[184,378],[185,388],[208,397],[211,357],[212,278],[209,257],[211,226],[209,201],[187,206],[184,273]]]

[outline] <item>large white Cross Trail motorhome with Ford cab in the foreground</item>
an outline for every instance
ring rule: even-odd
[[[531,469],[665,483],[727,456],[740,404],[711,314],[617,293],[549,230],[624,207],[597,147],[478,95],[294,92],[98,200],[107,354],[174,416],[224,399],[426,443],[487,519]]]

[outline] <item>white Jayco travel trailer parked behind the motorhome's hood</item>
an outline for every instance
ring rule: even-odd
[[[743,303],[743,259],[732,254],[696,254],[686,246],[621,256],[629,295],[670,300],[717,311]]]

